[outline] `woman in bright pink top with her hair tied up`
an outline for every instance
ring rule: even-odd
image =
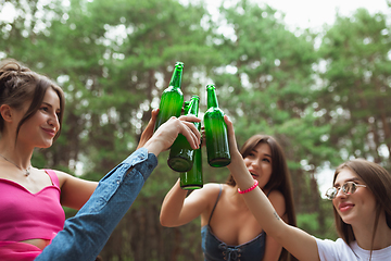
[[[34,149],[49,148],[60,135],[64,95],[59,86],[5,61],[0,66],[0,241],[24,243],[15,247],[39,251],[62,229],[61,204],[81,208],[97,183],[31,166]]]

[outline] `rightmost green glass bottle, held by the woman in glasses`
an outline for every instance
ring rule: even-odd
[[[207,111],[204,114],[207,163],[211,166],[226,166],[230,163],[227,125],[224,112],[218,108],[214,85],[206,86]]]

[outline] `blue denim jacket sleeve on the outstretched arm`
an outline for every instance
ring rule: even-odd
[[[94,260],[156,165],[156,157],[144,148],[130,154],[99,182],[90,199],[35,260]]]

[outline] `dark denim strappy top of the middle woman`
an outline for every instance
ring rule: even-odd
[[[256,261],[262,260],[265,253],[266,235],[262,232],[254,239],[238,246],[230,246],[218,239],[212,232],[210,223],[213,212],[222,195],[222,185],[217,200],[212,209],[207,224],[201,228],[201,248],[205,261]],[[227,228],[229,229],[229,228]]]

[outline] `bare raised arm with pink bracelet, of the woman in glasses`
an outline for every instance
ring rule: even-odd
[[[245,190],[254,184],[254,179],[248,172],[243,159],[237,149],[232,123],[227,116],[225,116],[225,121],[228,127],[231,153],[231,163],[228,165],[228,169],[239,188]],[[243,194],[242,197],[268,236],[272,236],[299,260],[320,260],[315,238],[298,227],[286,224],[258,187]]]

